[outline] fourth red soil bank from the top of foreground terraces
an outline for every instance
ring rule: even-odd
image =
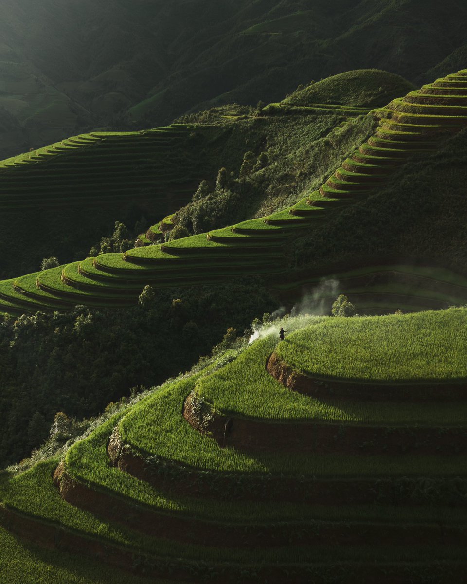
[[[273,524],[228,524],[191,519],[181,513],[163,513],[138,506],[78,482],[63,472],[54,475],[60,495],[71,505],[107,521],[121,523],[149,536],[211,547],[281,547],[285,545],[458,545],[467,543],[467,531],[440,525],[381,524],[363,522],[275,522]]]

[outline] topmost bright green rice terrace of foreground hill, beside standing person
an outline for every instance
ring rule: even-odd
[[[385,317],[332,318],[278,346],[297,371],[361,380],[467,378],[467,310]]]

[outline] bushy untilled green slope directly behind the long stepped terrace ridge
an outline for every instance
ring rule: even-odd
[[[221,122],[214,110],[184,116],[190,123]],[[233,176],[226,182],[204,184],[193,201],[176,213],[176,220],[193,234],[227,224],[267,215],[297,202],[316,189],[325,177],[371,132],[371,117],[320,112],[316,116],[267,116],[238,120],[226,142],[230,156],[241,152],[242,141],[251,147],[256,142],[254,160],[245,171],[245,162],[226,164]],[[225,122],[224,122],[225,123]],[[243,158],[249,154],[242,154]],[[243,169],[243,171],[242,171]]]

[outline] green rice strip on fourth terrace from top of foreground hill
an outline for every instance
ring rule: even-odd
[[[120,416],[100,426],[83,442],[79,442],[67,455],[67,473],[94,489],[104,489],[114,496],[124,496],[142,506],[161,513],[183,513],[185,517],[203,517],[218,520],[224,517],[228,523],[257,524],[280,521],[309,520],[396,520],[397,522],[437,521],[440,517],[449,522],[466,522],[467,510],[445,508],[427,509],[413,507],[409,510],[391,506],[313,506],[294,503],[270,505],[269,502],[253,502],[209,498],[168,496],[147,482],[138,481],[132,475],[109,466],[106,446],[113,426]],[[226,519],[228,518],[228,519]],[[299,518],[299,519],[298,519]]]

